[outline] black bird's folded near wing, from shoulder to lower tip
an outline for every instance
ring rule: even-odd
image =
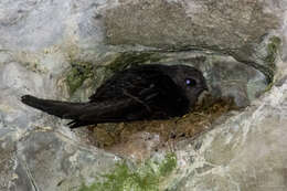
[[[106,95],[98,98],[95,96],[84,113],[78,114],[78,117],[70,124],[71,128],[86,125],[87,121],[99,124],[168,118],[177,112],[178,100],[182,97],[169,76],[153,73],[144,79],[139,79],[138,75],[134,77],[138,79],[125,81],[125,85],[121,84],[120,88],[117,86],[115,89],[107,89],[109,92],[105,92]],[[111,93],[113,97],[107,96]]]

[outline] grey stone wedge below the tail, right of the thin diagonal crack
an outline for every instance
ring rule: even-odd
[[[83,178],[94,181],[119,159],[45,129],[21,139],[18,157],[38,190],[77,190]]]

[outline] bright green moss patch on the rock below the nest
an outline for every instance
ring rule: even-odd
[[[83,184],[79,191],[159,191],[162,178],[169,176],[177,167],[174,153],[168,153],[160,162],[148,160],[136,169],[126,162],[117,163],[114,171],[100,176],[92,185]]]

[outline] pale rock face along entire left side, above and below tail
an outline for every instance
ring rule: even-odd
[[[119,160],[20,103],[23,94],[67,97],[71,60],[103,52],[89,51],[102,39],[94,17],[103,2],[0,2],[0,190],[78,190]]]

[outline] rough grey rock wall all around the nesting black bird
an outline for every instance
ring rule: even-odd
[[[86,99],[104,75],[155,61],[194,65],[214,96],[251,104],[177,145],[170,190],[286,190],[286,8],[265,0],[2,0],[0,190],[77,190],[119,160],[22,105],[21,95],[67,99],[76,84],[72,99]],[[93,75],[68,83],[83,63]],[[256,100],[275,63],[278,83]]]

